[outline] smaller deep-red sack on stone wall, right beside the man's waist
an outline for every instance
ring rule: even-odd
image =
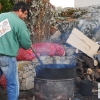
[[[39,53],[37,55],[39,56]],[[34,58],[36,58],[36,56],[31,49],[25,50],[23,48],[18,50],[18,54],[16,56],[17,61],[31,61]]]

